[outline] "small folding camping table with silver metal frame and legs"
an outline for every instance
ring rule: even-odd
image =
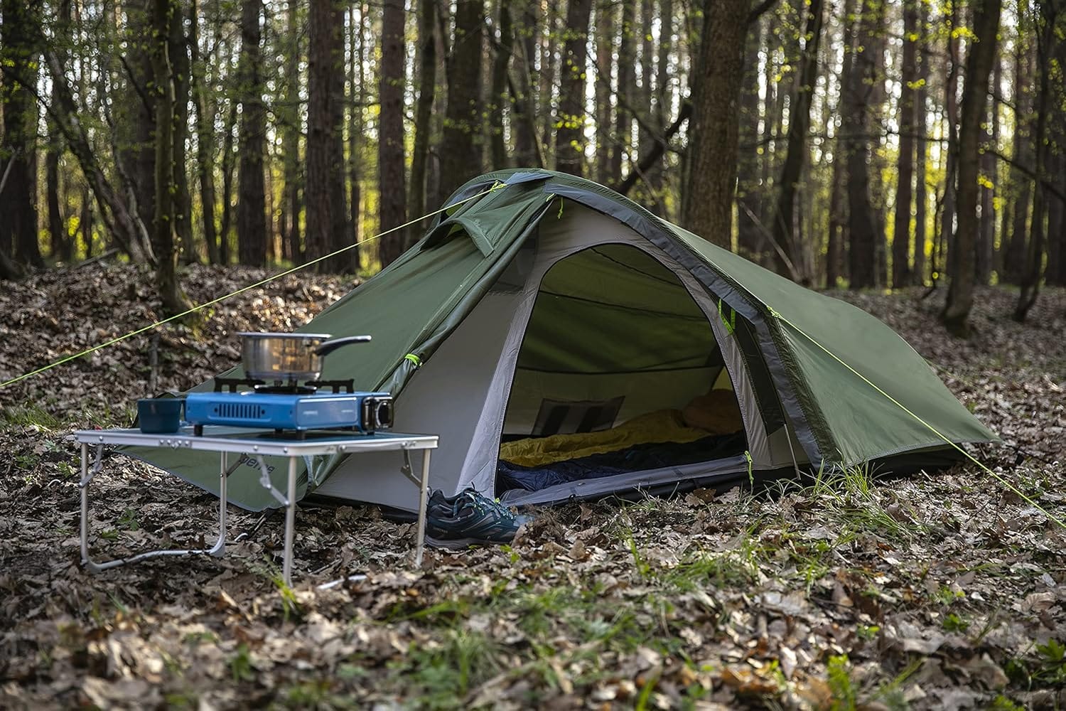
[[[418,540],[415,546],[415,565],[422,565],[422,548],[425,537],[425,504],[430,486],[430,450],[436,449],[436,435],[404,435],[377,433],[374,435],[344,434],[340,436],[312,436],[308,439],[289,439],[271,436],[271,431],[249,431],[235,427],[205,427],[204,435],[196,436],[192,427],[175,434],[149,435],[140,430],[79,430],[74,439],[81,443],[81,561],[93,572],[99,572],[127,563],[135,563],[159,555],[190,555],[207,553],[221,556],[226,548],[226,481],[240,465],[248,459],[259,468],[259,483],[285,506],[285,563],[282,576],[287,585],[292,584],[292,540],[296,512],[296,460],[304,456],[328,454],[359,454],[364,452],[401,451],[409,464],[407,453],[422,450],[422,475],[414,476],[409,466],[402,471],[419,485]],[[219,452],[219,539],[211,548],[196,550],[164,549],[151,550],[129,558],[96,562],[88,555],[88,484],[100,471],[104,445],[126,445],[131,447],[171,447],[192,451]],[[96,447],[95,463],[88,464],[88,448]],[[230,454],[238,454],[237,462],[229,464]],[[284,456],[289,459],[288,489],[277,490],[270,480],[270,472],[263,456]]]

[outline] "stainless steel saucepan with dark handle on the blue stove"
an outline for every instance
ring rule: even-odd
[[[328,334],[239,333],[244,374],[268,383],[295,385],[317,381],[322,358],[342,345],[366,343],[370,336],[349,336],[329,340]]]

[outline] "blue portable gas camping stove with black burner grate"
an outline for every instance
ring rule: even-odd
[[[196,435],[204,434],[206,424],[273,429],[278,434],[294,433],[298,439],[313,430],[373,434],[392,426],[392,395],[356,392],[352,381],[268,385],[216,377],[214,392],[190,392],[185,398],[185,419]]]

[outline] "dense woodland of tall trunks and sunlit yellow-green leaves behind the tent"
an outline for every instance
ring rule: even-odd
[[[370,273],[486,169],[584,175],[800,282],[1066,284],[1063,0],[0,3],[0,277]],[[364,242],[366,242],[364,244]]]

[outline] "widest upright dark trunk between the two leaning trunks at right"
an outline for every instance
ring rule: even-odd
[[[877,286],[878,224],[870,196],[870,111],[877,77],[877,0],[863,0],[856,33],[856,50],[847,77],[840,131],[847,162],[849,277],[852,289]]]

